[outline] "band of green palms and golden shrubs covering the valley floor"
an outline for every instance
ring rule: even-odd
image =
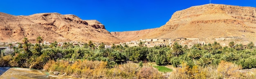
[[[155,68],[146,66],[140,61],[155,62],[159,66],[172,65],[177,68],[175,69],[177,75],[173,76],[173,78],[177,77],[178,73],[188,75],[182,77],[182,79],[192,77],[192,75],[198,76],[193,77],[195,79],[211,78],[213,75],[210,73],[216,71],[209,69],[218,70],[221,61],[233,64],[230,67],[233,67],[234,70],[256,68],[256,48],[254,43],[249,43],[245,46],[231,42],[229,47],[221,47],[219,43],[214,42],[205,45],[195,44],[191,48],[183,47],[179,43],[174,43],[170,47],[155,46],[148,48],[143,43],[140,43],[139,46],[135,47],[113,44],[111,48],[105,48],[104,43],[98,46],[92,41],[82,47],[79,45],[74,46],[72,43],[63,43],[63,46],[60,47],[56,41],[50,45],[38,44],[42,41],[43,39],[38,36],[37,44],[31,44],[27,38],[24,38],[22,44],[19,43],[18,47],[9,45],[13,48],[0,52],[0,66],[44,69],[51,72],[58,71],[60,74],[74,77],[115,77],[126,79],[135,77],[146,79],[163,78],[163,75],[155,72]],[[134,66],[126,62],[140,63]],[[198,73],[187,73],[186,71],[197,71]],[[238,76],[226,73],[221,75],[221,77],[220,75],[214,76],[213,79],[225,77],[241,78],[241,76],[243,78],[253,78],[252,75],[241,72],[237,73]]]

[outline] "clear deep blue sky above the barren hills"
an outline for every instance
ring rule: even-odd
[[[256,7],[256,0],[211,0],[213,4]],[[175,11],[209,4],[209,0],[1,0],[0,12],[73,14],[96,19],[110,32],[143,30],[164,25]]]

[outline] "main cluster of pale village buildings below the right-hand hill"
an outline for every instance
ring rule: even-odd
[[[173,43],[177,42],[182,46],[192,47],[195,44],[205,45],[208,43],[213,43],[214,41],[220,43],[221,46],[228,46],[229,42],[239,40],[238,37],[221,37],[221,38],[212,38],[212,39],[202,39],[202,38],[154,38],[154,39],[139,39],[136,41],[130,41],[126,43],[120,43],[121,45],[128,46],[139,46],[139,42],[142,42],[146,47],[155,47],[155,46],[172,46]],[[206,41],[207,40],[207,41]],[[242,43],[246,45],[249,41],[239,41],[238,43]]]

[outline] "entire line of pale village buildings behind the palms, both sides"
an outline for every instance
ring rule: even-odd
[[[136,41],[129,41],[129,42],[125,42],[125,43],[119,43],[119,44],[115,44],[115,45],[128,45],[130,47],[132,46],[139,46],[139,43],[142,42],[143,46],[146,47],[155,47],[155,46],[169,46],[171,47],[173,43],[177,42],[182,46],[187,46],[188,48],[192,47],[195,44],[199,44],[199,45],[205,45],[208,43],[213,43],[214,41],[217,41],[218,43],[220,43],[221,46],[225,47],[228,46],[229,42],[231,41],[236,41],[239,40],[240,38],[238,37],[221,37],[221,38],[212,38],[212,39],[202,39],[202,38],[175,38],[175,39],[171,39],[171,38],[153,38],[153,39],[139,39]],[[207,40],[207,41],[206,41]],[[40,43],[41,45],[51,45],[52,42],[46,42],[43,41],[43,43]],[[57,45],[62,47],[64,45],[65,42],[58,42]],[[83,43],[83,42],[78,42],[78,41],[70,41],[70,42],[66,42],[72,45],[79,45],[79,46],[83,46],[87,43]],[[239,43],[242,43],[243,45],[246,45],[247,43],[249,43],[249,41],[239,41]],[[12,46],[18,46],[18,42],[11,42],[11,43],[0,43],[0,47],[4,47],[7,48],[9,47],[9,44],[11,44]],[[34,44],[34,43],[32,43]],[[101,43],[97,43],[94,42],[95,47],[98,47]],[[111,48],[112,45],[105,45],[105,48]]]

